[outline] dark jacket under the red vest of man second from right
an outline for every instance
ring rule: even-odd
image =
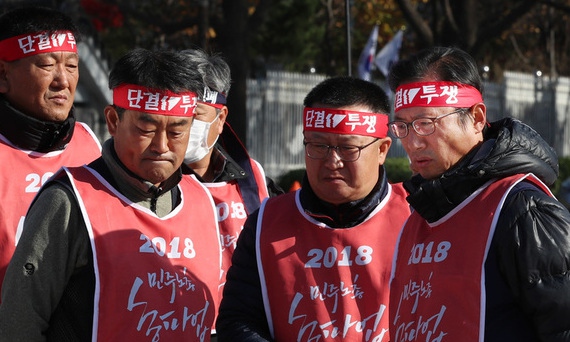
[[[333,206],[320,200],[303,179],[300,201],[305,212],[333,228],[353,227],[362,222],[387,194],[385,172],[373,191],[359,201]],[[218,341],[271,341],[261,295],[255,255],[258,211],[247,218],[239,236],[227,275],[216,323]]]

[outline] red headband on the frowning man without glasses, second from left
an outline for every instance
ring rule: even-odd
[[[197,94],[174,93],[149,89],[135,84],[122,84],[113,89],[113,103],[121,108],[150,114],[194,116]]]

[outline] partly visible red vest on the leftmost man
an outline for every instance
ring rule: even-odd
[[[0,135],[0,287],[22,233],[24,217],[40,187],[61,166],[78,166],[101,156],[101,145],[82,123],[76,123],[65,149],[49,153],[14,147]]]

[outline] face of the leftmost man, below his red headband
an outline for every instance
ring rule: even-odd
[[[53,52],[0,61],[0,92],[24,114],[62,122],[73,106],[79,81],[79,56]]]

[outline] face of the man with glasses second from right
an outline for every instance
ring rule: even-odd
[[[341,108],[369,111],[365,108]],[[331,146],[363,146],[375,140],[362,135],[304,132],[306,142]],[[378,182],[380,165],[384,163],[391,139],[380,139],[360,151],[351,162],[342,161],[334,149],[324,159],[313,159],[305,153],[307,178],[315,194],[331,204],[342,204],[366,197]]]

